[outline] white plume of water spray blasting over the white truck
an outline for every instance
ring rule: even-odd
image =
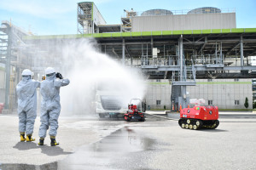
[[[63,77],[70,80],[61,88],[61,112],[90,114],[95,111],[96,86],[101,84],[120,96],[121,103],[143,99],[143,77],[96,49],[93,39],[68,42],[63,51]]]

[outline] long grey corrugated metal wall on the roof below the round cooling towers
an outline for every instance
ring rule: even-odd
[[[131,31],[174,31],[236,28],[236,13],[136,16]]]

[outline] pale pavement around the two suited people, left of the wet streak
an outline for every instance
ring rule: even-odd
[[[51,147],[49,134],[44,140],[44,146],[38,146],[38,129],[40,125],[37,117],[33,137],[35,142],[20,142],[18,116],[0,115],[0,163],[24,163],[42,165],[58,161],[73,153],[73,150],[84,144],[95,143],[123,127],[120,122],[101,122],[97,116],[61,117],[56,136],[59,146]]]

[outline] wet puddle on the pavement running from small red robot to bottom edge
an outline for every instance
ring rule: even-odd
[[[130,164],[127,162],[141,165],[143,157],[140,156],[144,151],[154,149],[154,144],[154,139],[144,136],[143,133],[137,133],[131,127],[123,127],[99,142],[79,147],[74,154],[62,161],[41,166],[0,164],[0,170],[129,169]]]

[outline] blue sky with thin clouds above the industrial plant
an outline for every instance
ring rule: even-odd
[[[36,35],[77,33],[77,0],[1,0],[0,20]],[[124,9],[143,12],[152,8],[168,10],[200,7],[236,8],[237,28],[256,28],[256,0],[95,0],[107,24],[119,24]]]

